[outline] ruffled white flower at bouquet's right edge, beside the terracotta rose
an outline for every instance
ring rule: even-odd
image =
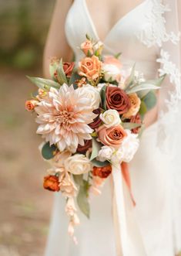
[[[127,136],[123,140],[122,145],[119,148],[119,151],[122,152],[122,161],[130,162],[136,151],[139,148],[139,138],[138,135],[133,134],[131,131],[126,130]]]

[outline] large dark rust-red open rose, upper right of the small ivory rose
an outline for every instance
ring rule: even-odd
[[[119,87],[108,86],[106,88],[106,106],[108,109],[116,109],[119,114],[129,111],[131,102],[126,92]]]

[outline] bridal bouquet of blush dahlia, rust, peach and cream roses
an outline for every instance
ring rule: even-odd
[[[102,49],[86,36],[80,46],[85,56],[77,65],[53,58],[52,80],[28,77],[39,87],[25,108],[35,112],[42,157],[50,164],[44,188],[65,196],[74,240],[76,206],[89,217],[89,193],[100,193],[114,166],[131,195],[127,163],[139,148],[142,119],[156,104],[155,90],[164,79],[145,80],[135,66],[124,70],[120,54],[104,56]]]

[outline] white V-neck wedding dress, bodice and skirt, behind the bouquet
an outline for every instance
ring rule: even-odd
[[[153,39],[156,41],[160,36],[156,37],[152,33],[154,22],[156,28],[164,26],[162,19],[164,11],[166,10],[161,1],[143,1],[112,27],[103,42],[104,53],[122,52],[123,68],[130,68],[136,63],[136,70],[144,73],[146,78],[153,79],[158,76],[161,59],[159,62],[156,60],[161,58],[162,44],[152,43]],[[85,0],[75,0],[72,4],[65,22],[65,33],[69,45],[75,52],[75,60],[82,57],[82,52],[77,46],[85,40],[86,33],[94,39],[99,39]],[[134,214],[132,221],[136,221],[143,251],[139,249],[138,237],[132,230],[132,224],[129,223],[127,223],[128,234],[132,236],[129,252],[122,253],[116,248],[117,237],[112,215],[112,177],[109,177],[102,188],[101,196],[90,198],[90,220],[79,213],[81,224],[75,230],[75,236],[79,241],[77,246],[67,234],[65,200],[61,194],[55,194],[45,256],[174,256],[179,253],[181,215],[179,210],[176,213],[174,210],[178,202],[173,200],[170,171],[173,162],[171,157],[157,145],[159,125],[159,122],[156,122],[146,128],[142,134],[139,150],[129,165],[132,193],[136,200],[136,207],[132,210]],[[176,231],[176,227],[179,231]]]

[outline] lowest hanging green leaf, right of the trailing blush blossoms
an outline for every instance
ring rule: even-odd
[[[89,191],[89,183],[83,180],[83,185],[79,187],[77,203],[82,213],[84,213],[85,216],[89,218],[90,206],[88,201],[88,191]]]

